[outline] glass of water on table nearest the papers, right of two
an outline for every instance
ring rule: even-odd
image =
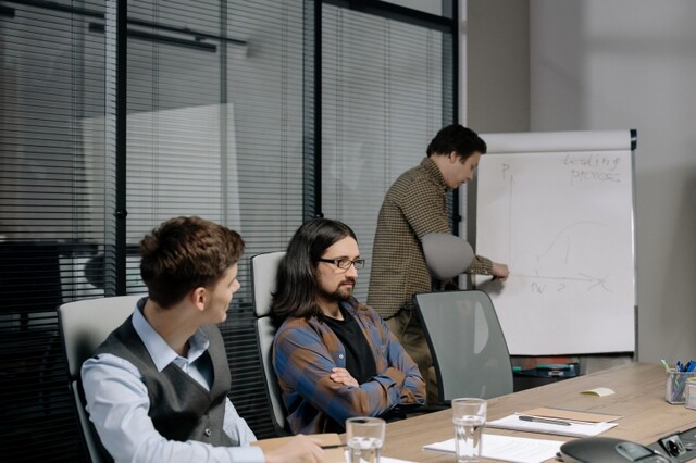
[[[452,422],[458,463],[481,460],[481,438],[486,424],[487,403],[484,399],[452,400]]]

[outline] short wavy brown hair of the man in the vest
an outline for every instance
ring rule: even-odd
[[[191,290],[215,284],[244,252],[238,233],[200,217],[175,217],[140,241],[140,276],[163,309]]]

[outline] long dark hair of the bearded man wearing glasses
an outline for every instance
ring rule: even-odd
[[[295,232],[276,275],[271,312],[277,321],[321,317],[316,265],[326,249],[346,237],[358,241],[348,225],[331,218],[311,218]]]

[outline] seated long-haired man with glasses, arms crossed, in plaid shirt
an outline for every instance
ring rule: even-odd
[[[363,265],[356,234],[327,218],[306,222],[281,261],[272,312],[284,322],[273,364],[295,434],[343,431],[351,416],[424,403],[415,363],[352,297]]]

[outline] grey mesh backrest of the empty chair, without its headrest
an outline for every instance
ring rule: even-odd
[[[480,290],[415,295],[433,354],[439,401],[512,392],[512,365],[488,295]]]

